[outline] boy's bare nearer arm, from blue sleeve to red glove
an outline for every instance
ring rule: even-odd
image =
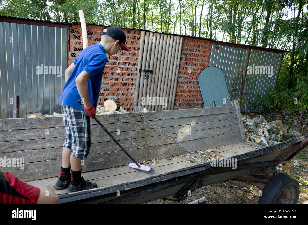
[[[91,78],[90,74],[86,71],[82,71],[76,77],[76,87],[79,92],[80,97],[83,99],[84,108],[89,108],[92,103],[89,98],[88,80]]]

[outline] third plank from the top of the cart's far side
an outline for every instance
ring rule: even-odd
[[[230,121],[230,125],[232,128],[236,131],[238,129],[238,126],[236,122],[234,121],[235,119]],[[228,128],[229,126],[225,126],[224,129],[221,129],[220,126],[224,126],[221,121],[217,122],[210,122],[210,123],[201,123],[201,124],[191,124],[191,125],[184,125],[184,126],[176,126],[176,127],[168,127],[164,128],[167,133],[173,135],[177,131],[183,133],[183,132],[188,132],[188,129],[191,130],[191,132],[195,133],[196,135],[200,134],[203,135],[203,133],[199,132],[200,130],[204,130],[204,132],[208,131],[209,133],[213,132],[212,130],[209,130],[211,128],[217,128],[215,132],[216,135],[220,134],[225,134],[226,130],[225,128]],[[205,127],[208,127],[209,129],[204,129]],[[101,130],[103,130],[101,128]],[[104,131],[102,131],[104,132]],[[128,131],[128,132],[120,132],[120,135],[116,135],[115,133],[111,133],[115,137],[116,140],[123,140],[126,141],[126,147],[128,148],[130,146],[130,143],[136,143],[134,144],[135,147],[129,147],[129,148],[139,148],[140,146],[138,143],[146,142],[147,139],[156,139],[160,140],[162,137],[162,133],[155,129],[146,129],[146,130],[141,130],[141,131]],[[213,135],[212,135],[213,136]],[[195,137],[195,136],[193,136]],[[206,137],[206,136],[205,136]],[[147,138],[147,139],[145,139]],[[54,147],[61,147],[63,146],[63,141],[65,137],[58,137],[58,138],[44,138],[44,139],[34,139],[34,140],[21,140],[21,141],[8,141],[8,142],[2,142],[0,146],[0,154],[3,152],[15,152],[15,151],[25,151],[25,150],[32,150],[32,149],[43,149],[43,148],[54,148]],[[93,143],[102,143],[98,146],[104,148],[107,148],[110,144],[111,138],[106,134],[106,133],[101,133],[101,134],[96,134],[96,135],[91,135],[91,144]],[[163,144],[158,142],[159,144]],[[155,143],[157,145],[158,143]],[[92,147],[95,145],[92,144]],[[148,146],[150,146],[150,143],[147,143]],[[111,144],[111,150],[114,150],[114,147],[117,145],[116,144]]]

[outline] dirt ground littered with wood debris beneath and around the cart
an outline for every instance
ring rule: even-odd
[[[257,114],[249,114],[250,116]],[[298,114],[300,116],[301,114]],[[275,111],[268,114],[262,114],[265,116],[267,121],[273,120],[282,120],[283,124],[289,125],[290,128],[301,132],[303,135],[308,133],[308,124],[305,121],[307,117],[303,119],[301,122],[298,119],[297,122],[294,122],[292,118],[296,117],[296,115],[289,115],[288,113],[282,113],[279,111]],[[289,138],[290,139],[290,138]],[[283,141],[289,140],[283,139]],[[307,151],[307,152],[304,152]],[[183,160],[192,159],[190,155],[184,155]],[[297,160],[297,164],[296,164]],[[189,162],[193,164],[192,162]],[[290,167],[286,170],[279,171],[278,173],[286,173],[292,177],[294,177],[300,186],[300,194],[298,203],[308,203],[308,146],[300,152],[297,156],[295,156],[290,161]],[[306,171],[305,171],[306,170]],[[174,200],[172,196],[156,199],[152,201],[145,202],[146,204],[151,203],[163,203],[163,204],[174,204],[174,203],[189,203],[194,200],[200,199],[205,196],[206,201],[201,204],[206,203],[254,203],[257,204],[259,200],[259,191],[257,187],[253,186],[249,182],[239,182],[239,181],[228,181],[228,182],[218,182],[215,184],[211,184],[205,187],[201,187],[196,189],[191,193],[191,196],[188,196],[185,200],[177,202]]]

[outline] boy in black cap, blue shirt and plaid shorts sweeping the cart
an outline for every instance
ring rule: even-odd
[[[97,184],[81,177],[81,160],[87,158],[91,146],[90,117],[96,113],[103,70],[108,62],[106,53],[111,56],[122,50],[130,51],[125,41],[124,31],[120,27],[108,27],[104,30],[101,41],[83,49],[74,63],[65,70],[66,84],[60,102],[66,139],[62,150],[60,177],[55,189],[68,187],[67,193],[71,193],[97,188]],[[78,103],[81,99],[84,108]]]

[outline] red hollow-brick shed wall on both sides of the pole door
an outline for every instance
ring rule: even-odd
[[[88,45],[100,42],[104,26],[86,25]],[[137,77],[137,65],[140,47],[140,30],[123,29],[126,34],[126,45],[132,50],[123,51],[118,55],[108,56],[105,65],[98,105],[103,105],[107,99],[118,99],[121,107],[134,111],[134,96]],[[210,41],[183,38],[182,55],[174,109],[202,107],[202,98],[198,85],[198,75],[207,67]],[[72,25],[70,30],[69,65],[83,49],[81,25]]]

